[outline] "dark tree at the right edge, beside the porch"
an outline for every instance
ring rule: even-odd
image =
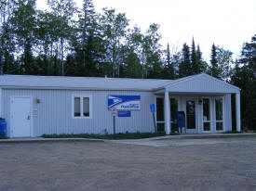
[[[241,88],[242,127],[256,131],[256,35],[243,46],[236,68],[231,72],[231,83]]]

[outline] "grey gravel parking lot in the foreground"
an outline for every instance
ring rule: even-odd
[[[0,143],[0,190],[255,190],[256,138]]]

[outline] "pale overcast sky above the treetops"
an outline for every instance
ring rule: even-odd
[[[37,0],[38,5],[47,0]],[[83,0],[75,0],[82,6]],[[131,26],[142,31],[160,24],[161,44],[166,48],[191,45],[194,36],[203,57],[209,59],[213,43],[238,56],[244,42],[256,33],[256,0],[94,0],[97,12],[102,7],[126,12]],[[42,6],[41,6],[42,7]]]

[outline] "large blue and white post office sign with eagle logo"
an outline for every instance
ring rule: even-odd
[[[140,110],[141,96],[108,96],[108,109]]]

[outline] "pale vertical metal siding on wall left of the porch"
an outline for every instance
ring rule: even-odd
[[[113,133],[113,117],[107,109],[108,95],[141,96],[141,110],[131,111],[130,118],[116,118],[116,133],[153,132],[154,121],[149,105],[154,103],[151,92],[132,91],[72,91],[3,89],[3,117],[7,119],[9,135],[10,96],[33,96],[34,136],[42,134],[109,134]],[[92,119],[72,119],[72,96],[92,96]],[[40,103],[36,103],[36,98]]]

